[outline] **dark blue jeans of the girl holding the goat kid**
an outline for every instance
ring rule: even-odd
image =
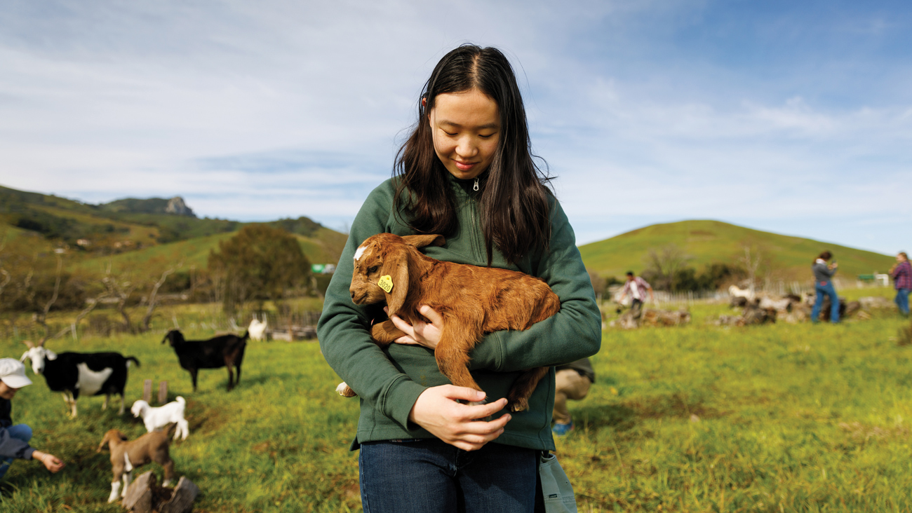
[[[532,513],[541,451],[488,443],[463,451],[437,438],[361,444],[365,513]]]

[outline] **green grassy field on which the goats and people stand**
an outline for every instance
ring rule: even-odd
[[[868,291],[862,295],[886,289]],[[907,511],[912,495],[912,346],[891,337],[889,312],[840,325],[717,328],[724,305],[696,304],[686,327],[608,330],[589,397],[571,402],[576,429],[557,440],[581,511]],[[192,314],[192,313],[188,313]],[[212,332],[188,330],[188,335]],[[239,388],[222,369],[189,374],[161,333],[57,351],[116,349],[140,358],[142,379],[167,379],[188,400],[191,436],[171,447],[179,475],[202,488],[198,512],[357,511],[358,467],[347,450],[358,402],[334,394],[336,375],[315,343],[251,343]],[[0,341],[0,354],[24,346]],[[31,371],[29,371],[31,375]],[[3,511],[122,511],[105,503],[102,434],[139,436],[138,419],[79,400],[69,420],[43,379],[14,401],[34,446],[67,460],[57,475],[16,462],[0,484]],[[160,470],[157,470],[161,472]]]

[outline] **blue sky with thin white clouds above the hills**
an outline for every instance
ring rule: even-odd
[[[0,184],[344,229],[463,42],[577,241],[717,219],[912,250],[908,2],[0,0]]]

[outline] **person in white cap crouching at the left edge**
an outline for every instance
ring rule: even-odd
[[[51,472],[64,467],[64,463],[54,455],[29,446],[32,428],[25,424],[14,426],[10,418],[16,392],[31,384],[32,380],[26,377],[25,365],[13,358],[0,358],[0,479],[14,459],[37,459]]]

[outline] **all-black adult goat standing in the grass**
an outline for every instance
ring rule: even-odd
[[[179,330],[171,330],[161,339],[161,344],[167,340],[174,348],[181,367],[190,371],[193,380],[193,392],[196,392],[196,374],[200,369],[228,368],[228,390],[241,382],[241,363],[244,361],[244,348],[250,332],[244,336],[225,334],[209,340],[186,340]],[[237,369],[237,380],[234,380],[233,370]]]

